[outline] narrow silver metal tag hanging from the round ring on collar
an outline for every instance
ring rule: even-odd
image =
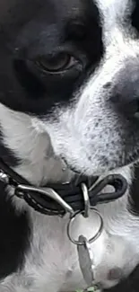
[[[83,235],[79,236],[79,242],[83,243],[81,245],[77,245],[80,268],[83,273],[83,279],[85,280],[86,284],[89,287],[91,287],[92,281],[94,280],[93,277],[94,265],[91,252],[91,245]]]

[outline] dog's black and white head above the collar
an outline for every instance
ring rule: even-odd
[[[2,20],[1,104],[26,112],[48,137],[56,157],[77,172],[101,174],[135,162],[137,1],[41,0],[33,5],[32,12],[31,1],[26,5],[21,1],[20,7],[11,8],[13,18],[8,12]],[[23,158],[22,149],[20,157],[20,149],[16,153],[17,145],[5,131],[5,115],[9,132],[22,134],[20,125],[10,128],[12,111],[1,106],[4,145]],[[22,143],[28,139],[23,136]]]

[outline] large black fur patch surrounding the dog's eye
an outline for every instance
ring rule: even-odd
[[[0,33],[0,102],[15,111],[46,115],[55,104],[69,102],[85,73],[100,62],[100,14],[90,0],[62,1],[60,9],[58,1],[35,1],[33,13],[31,1],[24,3],[20,19],[15,7]],[[59,51],[73,56],[74,66],[58,74],[44,74],[35,66],[39,56]]]

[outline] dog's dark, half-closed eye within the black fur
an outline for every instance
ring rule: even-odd
[[[39,56],[35,59],[35,64],[44,72],[59,73],[74,66],[75,59],[66,53],[59,53],[55,57],[46,58]]]

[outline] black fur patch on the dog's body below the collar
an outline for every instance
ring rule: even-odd
[[[12,198],[0,182],[0,279],[22,269],[30,247],[30,221],[27,212],[17,212]]]

